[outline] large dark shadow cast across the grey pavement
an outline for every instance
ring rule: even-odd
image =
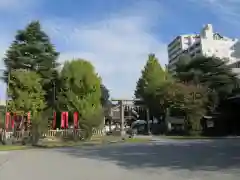
[[[240,168],[239,140],[108,145],[58,150],[74,157],[112,161],[124,168],[229,170]]]

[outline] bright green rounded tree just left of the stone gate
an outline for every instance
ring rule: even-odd
[[[79,112],[80,126],[90,136],[92,129],[103,122],[101,79],[92,64],[82,59],[66,62],[61,71],[61,87],[58,108]]]

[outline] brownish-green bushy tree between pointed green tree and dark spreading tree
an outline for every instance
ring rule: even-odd
[[[171,112],[171,116],[185,117],[187,132],[201,130],[200,119],[206,113],[207,89],[189,83],[165,81],[156,91],[156,100],[162,109]]]

